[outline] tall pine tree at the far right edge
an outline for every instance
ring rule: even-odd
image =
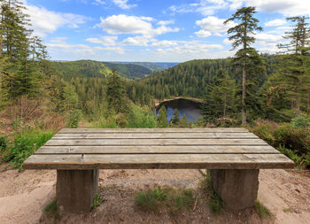
[[[306,69],[310,57],[310,27],[305,16],[291,17],[292,29],[283,36],[288,43],[279,44],[285,50],[278,67],[279,82],[291,98],[291,109],[296,113],[310,112],[310,74]]]

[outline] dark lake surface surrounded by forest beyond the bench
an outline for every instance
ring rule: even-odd
[[[167,102],[164,102],[162,104],[159,104],[159,106],[156,108],[155,114],[157,115],[159,112],[159,108],[161,106],[165,105],[167,109],[167,121],[169,122],[174,114],[174,110],[177,109],[179,113],[180,119],[182,119],[183,115],[186,114],[186,118],[188,121],[196,121],[198,118],[201,117],[201,114],[199,113],[200,110],[200,104],[193,102],[188,99],[174,99]]]

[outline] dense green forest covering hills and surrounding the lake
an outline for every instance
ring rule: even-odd
[[[1,0],[0,6],[1,161],[20,167],[62,127],[243,125],[298,165],[310,165],[306,17],[288,18],[288,41],[278,44],[283,52],[267,55],[252,47],[261,28],[255,9],[244,7],[228,19],[238,21],[228,31],[232,48],[237,49],[235,57],[192,60],[151,73],[159,68],[87,60],[51,62],[41,39],[27,28],[31,25],[23,4]],[[203,119],[188,123],[176,112],[167,123],[165,107],[155,117],[155,100],[172,97],[203,99]]]

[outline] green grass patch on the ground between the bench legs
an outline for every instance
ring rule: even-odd
[[[135,197],[136,205],[146,212],[159,212],[167,209],[176,215],[184,209],[190,210],[195,202],[191,189],[147,189],[140,191]]]

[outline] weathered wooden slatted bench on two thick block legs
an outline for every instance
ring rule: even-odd
[[[245,128],[62,129],[24,169],[57,169],[57,204],[89,212],[98,169],[209,169],[229,208],[254,205],[260,169],[294,163]]]

